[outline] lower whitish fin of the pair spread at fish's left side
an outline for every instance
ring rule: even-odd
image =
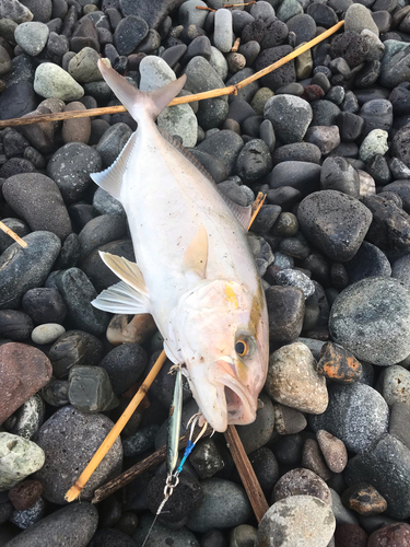
[[[94,307],[110,313],[150,313],[150,300],[124,281],[113,284],[92,301]]]

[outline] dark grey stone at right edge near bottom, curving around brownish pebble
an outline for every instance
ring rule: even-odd
[[[377,491],[387,501],[387,514],[408,519],[410,451],[390,434],[383,435],[370,450],[350,459],[344,478],[348,486],[358,482],[377,485]]]

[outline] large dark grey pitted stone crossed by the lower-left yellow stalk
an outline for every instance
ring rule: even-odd
[[[90,461],[113,427],[99,414],[83,414],[72,406],[58,409],[38,430],[34,440],[46,455],[46,463],[36,478],[44,486],[44,498],[65,504],[65,494]],[[122,464],[122,447],[115,441],[98,468],[81,491],[82,501],[91,500],[94,490],[116,476]],[[71,505],[70,505],[71,507]]]

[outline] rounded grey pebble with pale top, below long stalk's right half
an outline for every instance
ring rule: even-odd
[[[269,119],[276,133],[284,143],[298,142],[303,139],[312,121],[311,105],[294,95],[274,95],[263,108],[263,116]]]

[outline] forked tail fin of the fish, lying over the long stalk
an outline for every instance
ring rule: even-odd
[[[187,78],[184,74],[163,88],[145,93],[137,90],[124,77],[113,70],[108,59],[98,59],[98,69],[104,80],[137,123],[139,123],[143,114],[148,114],[155,119],[160,112],[180,92]]]

